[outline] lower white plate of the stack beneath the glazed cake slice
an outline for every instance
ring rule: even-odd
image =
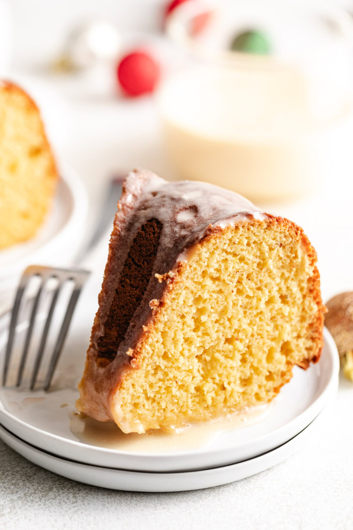
[[[304,447],[319,423],[320,416],[285,444],[255,458],[213,469],[179,473],[125,471],[65,460],[25,443],[1,425],[0,438],[27,460],[71,480],[114,490],[167,492],[211,488],[265,471]]]

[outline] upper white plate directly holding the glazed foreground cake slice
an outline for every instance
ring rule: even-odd
[[[192,427],[181,435],[159,431],[123,435],[112,422],[82,419],[75,413],[77,383],[83,372],[100,285],[101,277],[90,278],[79,299],[52,391],[46,394],[11,387],[0,390],[0,423],[44,451],[82,463],[135,471],[185,471],[227,465],[265,453],[291,439],[309,425],[337,390],[339,357],[331,335],[324,330],[319,363],[306,371],[295,367],[292,381],[282,388],[273,404],[247,417],[223,420],[211,427]],[[2,357],[8,318],[6,313],[0,319]],[[17,326],[15,356],[22,351],[27,326],[24,314]],[[58,328],[53,328],[57,333]],[[35,331],[30,356],[35,354],[39,336]],[[48,348],[55,339],[53,333]],[[14,367],[12,370],[14,375]]]

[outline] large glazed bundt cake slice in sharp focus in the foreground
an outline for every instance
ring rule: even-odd
[[[132,172],[77,409],[145,432],[270,401],[320,356],[315,262],[300,227],[236,193]]]

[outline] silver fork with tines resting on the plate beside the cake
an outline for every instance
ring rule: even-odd
[[[92,237],[89,238],[89,242],[85,246],[84,250],[80,252],[79,257],[76,258],[76,262],[80,262],[85,257],[85,255],[93,247],[96,246],[102,234],[105,232],[105,229],[111,223],[112,216],[114,215],[115,210],[116,210],[116,202],[117,202],[117,199],[119,198],[120,191],[121,191],[121,181],[122,179],[116,178],[110,182],[110,185],[108,186],[108,190],[106,193],[105,200],[102,205],[101,215],[99,216],[96,229]],[[43,352],[46,347],[50,324],[51,324],[52,316],[53,316],[53,313],[55,311],[55,307],[58,301],[59,293],[62,287],[64,286],[64,284],[66,284],[69,281],[74,282],[74,288],[70,295],[67,309],[64,315],[64,319],[62,320],[60,331],[57,337],[57,341],[52,351],[48,372],[47,372],[46,377],[44,378],[43,388],[44,388],[44,391],[47,392],[50,388],[51,380],[54,375],[56,366],[58,364],[58,360],[59,360],[62,348],[64,346],[64,342],[65,342],[65,339],[66,339],[66,336],[69,330],[69,325],[73,317],[79,295],[89,275],[90,275],[90,272],[88,270],[77,269],[77,268],[63,269],[63,268],[31,265],[30,267],[27,267],[24,270],[21,280],[20,280],[19,287],[17,288],[17,292],[15,295],[15,301],[14,301],[14,305],[13,305],[12,313],[11,313],[10,328],[8,331],[8,339],[7,339],[6,352],[5,352],[3,386],[6,385],[8,369],[10,367],[11,355],[12,355],[12,350],[13,350],[13,345],[14,345],[14,340],[15,340],[15,335],[16,335],[16,325],[17,325],[17,320],[19,317],[21,301],[23,298],[23,294],[26,290],[26,287],[28,287],[31,279],[33,277],[39,277],[40,283],[39,283],[37,294],[35,294],[35,296],[33,297],[33,305],[32,305],[31,315],[29,319],[29,326],[28,326],[26,338],[24,341],[24,347],[23,347],[22,356],[20,360],[19,370],[17,372],[17,380],[16,380],[17,387],[20,386],[22,383],[24,367],[25,367],[26,359],[28,357],[28,351],[29,351],[29,347],[31,343],[31,337],[33,333],[34,324],[35,324],[35,321],[38,315],[39,302],[40,302],[41,296],[43,294],[45,287],[48,285],[48,282],[53,278],[57,280],[57,286],[52,291],[52,297],[51,297],[51,302],[49,306],[46,323],[44,324],[41,340],[39,343],[39,348],[37,350],[37,355],[34,360],[34,367],[33,367],[32,376],[30,379],[31,390],[34,389],[35,384],[37,383],[38,372],[39,372],[39,368],[40,368],[41,361],[43,358]]]

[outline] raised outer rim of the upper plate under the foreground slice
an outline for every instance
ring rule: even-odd
[[[318,416],[325,404],[330,399],[330,396],[336,393],[339,374],[339,356],[337,347],[327,329],[324,329],[323,335],[325,346],[327,346],[331,360],[331,373],[327,384],[322,389],[320,395],[316,397],[309,407],[307,407],[291,421],[268,434],[254,438],[253,440],[247,442],[247,452],[251,454],[251,456],[262,454],[265,451],[269,451],[270,449],[273,449],[274,447],[277,447],[293,438],[298,434],[298,432],[309,425],[316,416]],[[170,468],[170,461],[175,462],[177,459],[181,462],[184,462],[183,469],[202,469],[207,466],[211,467],[211,465],[225,465],[229,462],[234,462],[234,455],[231,456],[231,449],[224,451],[217,458],[216,456],[220,453],[219,448],[213,448],[208,451],[206,449],[204,452],[200,452],[199,449],[191,449],[189,451],[183,451],[182,453],[168,452],[164,455],[153,455],[148,453],[131,453],[127,451],[119,451],[117,449],[88,446],[87,444],[84,444],[80,441],[69,440],[56,434],[52,434],[51,432],[43,431],[30,425],[29,423],[25,423],[23,420],[16,418],[11,412],[7,411],[2,406],[1,402],[0,422],[2,422],[6,429],[13,432],[16,436],[25,439],[36,447],[39,446],[38,439],[42,439],[44,441],[49,440],[52,445],[55,446],[55,450],[51,450],[51,452],[57,454],[58,456],[70,458],[69,453],[72,455],[80,451],[81,458],[77,460],[83,462],[82,456],[85,452],[94,453],[94,455],[97,457],[97,460],[94,463],[95,465],[102,465],[104,457],[107,456],[114,456],[116,460],[122,458],[125,464],[124,469],[138,471],[151,471],[156,469],[159,469],[160,471],[175,471],[176,469],[180,470],[182,469],[180,467],[175,467],[175,469]],[[44,443],[44,445],[47,446],[48,444]],[[241,461],[241,455],[242,453],[239,454],[238,461]],[[84,460],[85,463],[92,464],[91,458],[84,458]],[[206,466],[202,465],[200,463],[201,460],[203,462],[209,462],[209,464]]]

